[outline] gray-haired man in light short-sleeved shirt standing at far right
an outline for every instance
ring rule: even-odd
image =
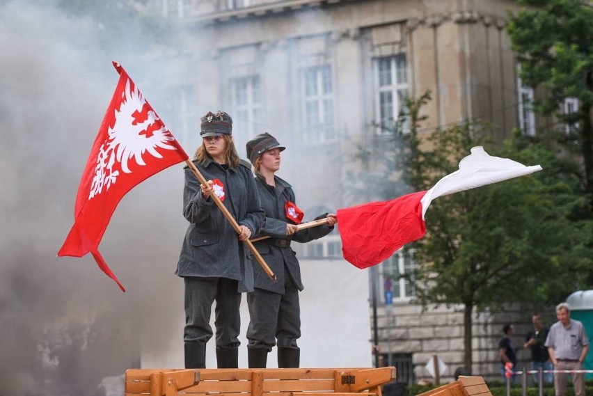
[[[583,362],[589,352],[589,338],[581,322],[570,318],[568,303],[556,306],[558,322],[553,324],[546,339],[546,347],[554,370],[583,370]],[[570,374],[575,396],[585,396],[585,374]],[[564,396],[567,390],[569,374],[554,373],[556,396]]]

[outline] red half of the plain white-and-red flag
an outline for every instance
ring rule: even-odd
[[[371,267],[404,244],[422,238],[426,224],[420,200],[426,192],[338,209],[344,258],[358,268]]]

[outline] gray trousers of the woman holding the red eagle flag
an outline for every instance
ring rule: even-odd
[[[216,301],[214,325],[216,347],[239,347],[241,331],[241,293],[238,282],[228,278],[185,277],[185,328],[184,342],[208,342],[212,338],[210,315]]]

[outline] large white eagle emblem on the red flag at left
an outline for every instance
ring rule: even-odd
[[[129,78],[122,92],[120,109],[113,116],[116,121],[113,128],[107,129],[109,136],[97,155],[89,200],[102,193],[104,188],[109,190],[111,184],[115,184],[120,175],[118,168],[124,173],[132,173],[128,166],[130,160],[134,159],[136,164],[144,166],[146,163],[142,156],[145,152],[152,157],[162,158],[156,148],[176,150],[175,146],[168,144],[175,138],[138,88],[134,86],[134,90],[131,90]]]

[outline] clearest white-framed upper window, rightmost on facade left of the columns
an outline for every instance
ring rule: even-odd
[[[409,121],[398,123],[408,96],[406,55],[383,56],[374,60],[376,81],[377,134],[409,132]]]

